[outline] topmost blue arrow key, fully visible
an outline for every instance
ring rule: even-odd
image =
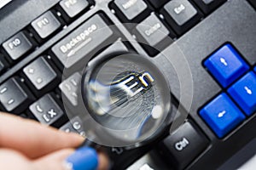
[[[204,62],[204,65],[224,88],[249,69],[240,54],[230,44],[219,48]]]

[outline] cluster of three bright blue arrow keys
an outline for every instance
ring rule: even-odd
[[[224,138],[246,119],[243,113],[251,116],[256,111],[256,74],[249,71],[250,65],[230,43],[211,54],[203,65],[227,89],[204,106],[199,114],[218,138]]]

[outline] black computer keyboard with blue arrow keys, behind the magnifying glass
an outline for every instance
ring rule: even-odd
[[[255,8],[253,0],[13,1],[0,10],[0,111],[85,137],[81,68],[115,52],[142,54],[165,75],[182,123],[137,148],[103,146],[111,169],[217,169],[256,137]]]

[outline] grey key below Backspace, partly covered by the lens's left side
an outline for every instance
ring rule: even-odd
[[[63,97],[65,97],[73,106],[78,105],[78,89],[80,81],[81,75],[79,72],[76,72],[59,85],[61,93],[64,95]]]

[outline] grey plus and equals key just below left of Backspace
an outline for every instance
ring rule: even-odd
[[[23,72],[38,91],[54,88],[57,85],[58,75],[44,57],[34,60],[23,69]]]

